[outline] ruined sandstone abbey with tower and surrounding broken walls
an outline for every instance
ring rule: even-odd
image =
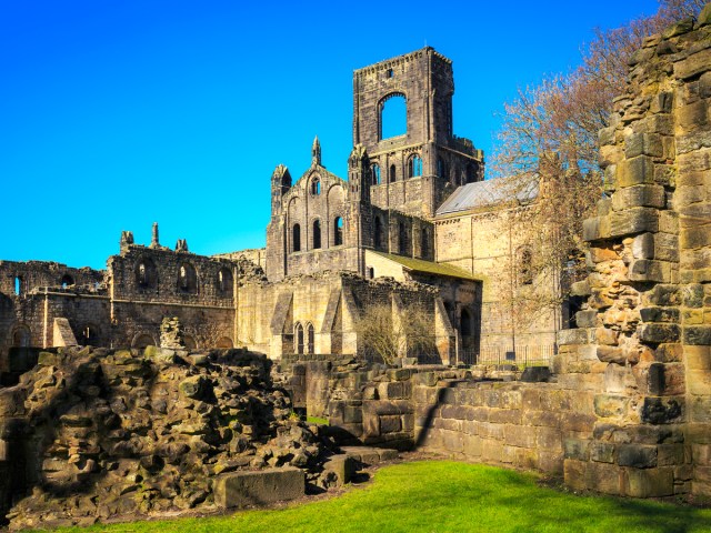
[[[184,240],[163,247],[156,225],[148,245],[123,232],[106,271],[0,262],[2,442],[21,440],[13,421],[31,403],[18,405],[18,380],[40,386],[37,372],[81,353],[70,346],[170,359],[152,346],[176,318],[187,351],[264,354],[294,406],[353,442],[609,494],[711,496],[711,4],[632,58],[600,132],[605,195],[584,224],[589,275],[572,288],[584,303],[531,321],[515,343],[494,274],[521,255],[502,224],[535,191],[507,198],[483,181],[483,153],[452,131],[451,61],[432,48],[356,70],[353,88],[347,179],[322,167],[318,139],[296,181],[279,165],[264,249],[196,255]],[[383,139],[393,98],[407,132]],[[382,304],[393,320],[421,310],[431,349],[404,343],[404,366],[373,366],[357,322]],[[484,349],[515,362],[521,346],[548,345],[550,372],[471,365]],[[110,461],[94,444],[92,461]]]

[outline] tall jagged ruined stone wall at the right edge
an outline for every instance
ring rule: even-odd
[[[647,39],[600,132],[610,198],[584,224],[590,296],[560,369],[595,391],[593,433],[565,457],[573,486],[604,467],[613,493],[711,493],[710,24],[707,6]]]

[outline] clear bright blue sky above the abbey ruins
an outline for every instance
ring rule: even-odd
[[[352,71],[425,43],[454,132],[487,152],[517,87],[574,67],[654,0],[0,0],[0,259],[103,268],[121,230],[202,254],[264,245],[270,175],[346,178]]]

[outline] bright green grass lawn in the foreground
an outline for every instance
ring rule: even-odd
[[[711,532],[711,509],[579,496],[537,484],[533,474],[425,461],[383,467],[368,486],[272,511],[101,525],[106,532]]]

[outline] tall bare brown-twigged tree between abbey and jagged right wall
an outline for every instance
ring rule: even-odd
[[[565,299],[569,282],[584,274],[582,221],[594,214],[602,195],[598,132],[610,125],[612,101],[627,88],[629,59],[645,37],[697,14],[703,4],[703,0],[662,0],[652,17],[598,30],[582,47],[577,69],[520,89],[517,99],[504,105],[493,175],[517,177],[502,180],[502,187],[530,188],[535,183],[539,188],[538,201],[518,210],[510,220],[517,232],[523,233],[519,239],[533,251],[533,279],[540,280],[549,271],[559,283],[555,298],[525,289],[512,290],[511,299],[557,306]],[[512,260],[518,261],[515,257]],[[502,271],[514,286],[515,264]],[[523,309],[521,302],[515,306]]]

